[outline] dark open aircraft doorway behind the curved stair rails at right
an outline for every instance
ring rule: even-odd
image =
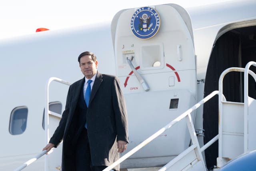
[[[254,22],[255,24],[255,22]],[[218,90],[220,74],[230,67],[245,68],[250,61],[256,61],[256,26],[248,26],[230,30],[216,40],[208,62],[204,85],[204,97]],[[250,70],[256,72],[255,67]],[[243,73],[228,73],[223,80],[223,94],[227,101],[244,102]],[[249,96],[256,99],[256,85],[252,76],[248,81]],[[218,97],[205,103],[203,127],[204,144],[218,134]],[[218,157],[218,141],[205,150],[208,169],[216,165]]]

